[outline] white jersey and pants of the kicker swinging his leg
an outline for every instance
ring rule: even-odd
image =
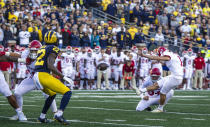
[[[184,75],[183,64],[179,55],[175,53],[166,50],[162,55],[170,57],[170,60],[166,61],[165,64],[169,68],[171,75],[163,77],[161,80],[157,81],[157,83],[159,86],[163,86],[160,92],[162,94],[167,94],[171,89],[176,88],[182,83]]]

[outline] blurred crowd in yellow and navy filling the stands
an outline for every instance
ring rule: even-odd
[[[109,20],[95,18],[92,6],[109,14]],[[21,53],[32,40],[44,44],[45,33],[54,30],[61,49],[100,46],[127,52],[146,44],[148,52],[167,46],[183,55],[193,49],[209,62],[209,0],[0,0],[0,17],[0,44],[11,52]],[[0,66],[9,84],[16,84],[9,79],[22,75],[21,65]]]

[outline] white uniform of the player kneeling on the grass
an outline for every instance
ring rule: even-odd
[[[162,78],[160,78],[161,80]],[[148,86],[152,86],[154,84],[154,82],[152,82],[151,77],[148,76],[145,78],[145,81],[143,83],[143,85],[141,86],[141,88],[147,88]],[[151,105],[158,105],[159,104],[159,100],[160,100],[160,89],[162,88],[162,86],[154,91],[149,91],[146,92],[145,95],[142,95],[142,99],[141,101],[138,103],[137,107],[136,107],[136,111],[143,111],[144,109],[146,109],[147,107],[151,106]],[[174,90],[170,90],[167,94],[166,94],[166,103],[172,98],[172,96],[174,95]],[[144,100],[143,97],[144,96],[149,96],[149,100]]]

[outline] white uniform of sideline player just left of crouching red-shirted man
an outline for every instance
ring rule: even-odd
[[[113,69],[113,75],[114,79],[117,82],[119,78],[122,77],[122,68],[123,68],[123,62],[124,62],[124,56],[121,53],[120,56],[118,57],[117,54],[113,55],[112,60],[114,61],[114,64],[112,66]],[[121,64],[120,64],[121,63]]]

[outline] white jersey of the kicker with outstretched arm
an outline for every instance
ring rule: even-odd
[[[181,58],[179,57],[179,55],[169,52],[169,51],[165,51],[165,52],[163,52],[163,56],[170,57],[170,60],[166,61],[165,64],[169,68],[171,75],[182,79],[182,77],[184,75],[183,74],[183,65],[182,65],[182,61],[181,61]]]

